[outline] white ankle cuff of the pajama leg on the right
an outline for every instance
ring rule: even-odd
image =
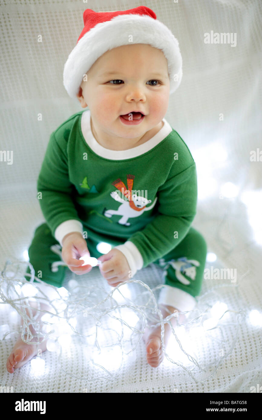
[[[180,312],[184,312],[195,307],[196,299],[186,291],[166,284],[161,288],[158,303],[173,306]]]

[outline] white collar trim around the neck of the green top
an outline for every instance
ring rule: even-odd
[[[92,149],[93,152],[96,153],[96,155],[110,160],[122,160],[143,155],[144,153],[148,152],[148,150],[153,149],[153,147],[155,147],[162,140],[164,140],[168,136],[168,134],[171,133],[172,127],[165,120],[165,118],[163,118],[162,121],[164,121],[164,126],[151,139],[149,139],[143,144],[140,144],[137,147],[133,147],[132,149],[127,150],[106,149],[96,141],[90,126],[90,110],[86,110],[82,113],[81,131],[86,143],[88,144],[90,149]]]

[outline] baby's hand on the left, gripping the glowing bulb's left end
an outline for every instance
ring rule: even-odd
[[[83,265],[83,260],[79,260],[84,254],[90,256],[87,243],[80,232],[72,232],[64,236],[62,240],[62,258],[73,273],[85,274],[92,270],[90,264]]]

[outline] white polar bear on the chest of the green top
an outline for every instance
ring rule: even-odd
[[[151,203],[151,200],[148,200],[144,197],[140,197],[137,194],[132,194],[132,201],[135,207],[139,210],[135,210],[130,206],[130,201],[126,201],[125,199],[119,197],[116,191],[111,192],[111,197],[114,198],[116,201],[121,202],[118,210],[106,210],[103,214],[106,217],[112,217],[113,214],[122,216],[121,219],[118,220],[120,225],[130,226],[130,223],[127,222],[129,218],[138,217],[144,213],[144,211],[151,210],[156,204],[157,197],[154,199],[153,203],[149,207],[145,207],[147,204]]]

